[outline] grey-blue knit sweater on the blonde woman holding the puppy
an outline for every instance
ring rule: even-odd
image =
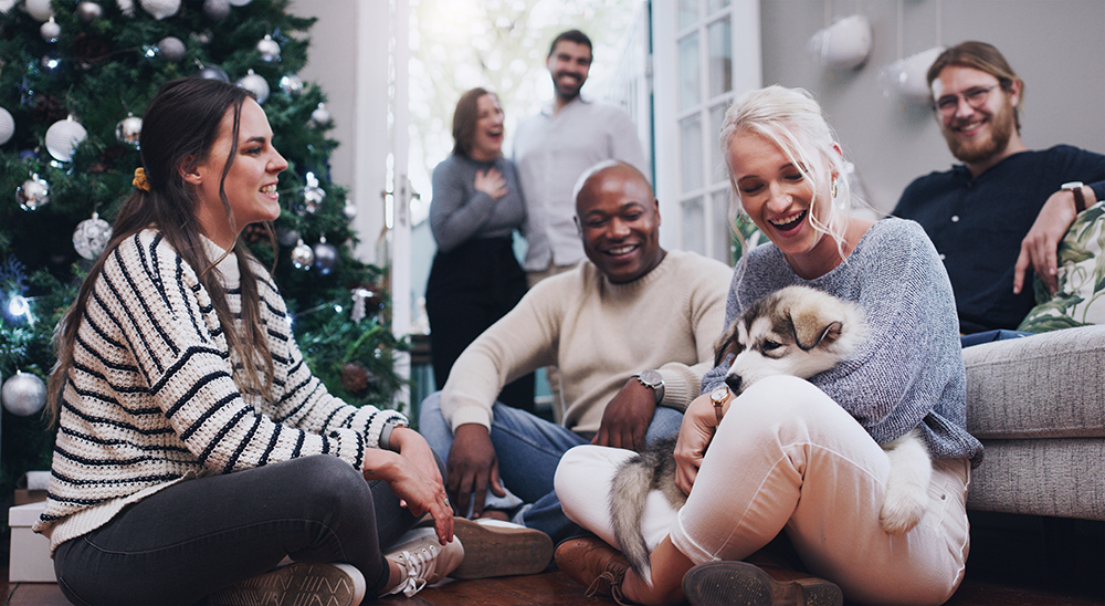
[[[814,376],[878,443],[920,424],[935,459],[982,461],[982,445],[966,430],[966,370],[951,284],[920,226],[878,221],[834,270],[803,280],[775,244],[749,251],[734,272],[726,326],[758,299],[792,284],[812,286],[863,310],[867,336],[852,359]],[[723,363],[703,377],[720,385]]]

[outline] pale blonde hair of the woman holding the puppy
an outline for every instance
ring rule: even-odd
[[[739,133],[755,133],[766,137],[779,146],[779,149],[801,171],[802,177],[813,189],[813,197],[810,200],[810,224],[817,231],[831,237],[836,242],[841,259],[846,259],[844,231],[848,229],[848,212],[852,207],[852,190],[844,158],[838,150],[835,134],[813,96],[803,88],[786,88],[778,85],[744,93],[725,112],[725,119],[722,123],[722,154],[726,158],[729,145]],[[741,210],[740,189],[728,161],[726,170],[729,175],[729,185],[733,187],[729,221],[740,238],[743,254],[747,254],[748,247],[744,245],[740,230],[736,229],[736,218]],[[831,194],[833,180],[836,181],[835,196]],[[818,219],[818,212],[813,210],[824,203],[829,205],[829,212],[828,220],[822,223]]]

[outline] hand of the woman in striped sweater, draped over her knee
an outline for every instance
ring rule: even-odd
[[[396,431],[399,429],[396,428]],[[392,431],[392,440],[396,439],[396,431]],[[421,436],[418,438],[425,443]],[[402,445],[401,448],[409,447]],[[430,447],[427,446],[425,449],[429,450]],[[415,448],[415,450],[418,449]],[[420,453],[414,453],[414,456],[422,458]],[[432,462],[432,453],[430,458]],[[444,545],[453,540],[453,508],[449,504],[445,485],[441,482],[441,472],[438,471],[436,463],[432,464],[432,477],[422,471],[423,467],[422,462],[415,462],[408,458],[406,452],[400,454],[390,450],[370,448],[365,453],[362,472],[366,480],[388,482],[391,492],[399,497],[401,504],[409,509],[414,516],[421,516],[429,512],[433,518],[433,527],[438,533],[438,540]]]

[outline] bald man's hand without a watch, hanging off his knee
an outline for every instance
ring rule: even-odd
[[[498,459],[486,427],[464,424],[456,428],[445,478],[445,490],[459,515],[467,513],[470,499],[473,500],[472,518],[483,515],[488,488],[498,497],[506,494],[498,479]]]

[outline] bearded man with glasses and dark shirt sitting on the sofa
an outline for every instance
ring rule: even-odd
[[[940,133],[964,164],[914,180],[894,215],[919,222],[936,244],[964,334],[1013,330],[1035,305],[1029,271],[1054,292],[1060,240],[1105,199],[1105,156],[1025,147],[1024,82],[990,44],[944,51],[928,85]]]

